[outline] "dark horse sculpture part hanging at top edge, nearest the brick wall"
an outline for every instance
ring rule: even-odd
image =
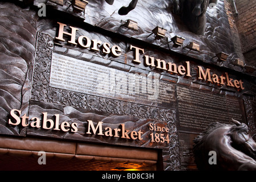
[[[210,3],[216,5],[217,0],[173,0],[174,13],[180,14],[188,29],[203,35],[206,28],[206,11]]]

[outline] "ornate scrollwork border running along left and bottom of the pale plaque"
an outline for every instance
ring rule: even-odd
[[[166,121],[170,129],[170,159],[167,160],[170,164],[166,165],[166,170],[180,170],[175,110],[49,87],[52,52],[53,38],[38,32],[31,100]]]

